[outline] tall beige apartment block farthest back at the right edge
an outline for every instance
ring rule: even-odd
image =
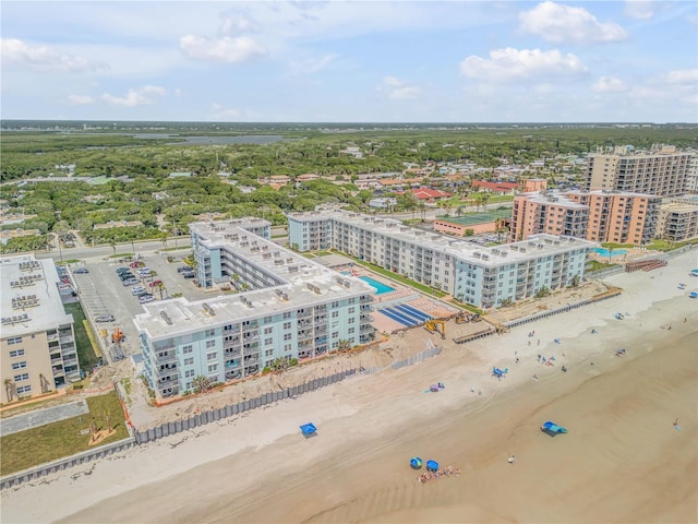
[[[600,148],[587,156],[587,189],[677,196],[685,192],[693,157],[670,145],[652,151]]]

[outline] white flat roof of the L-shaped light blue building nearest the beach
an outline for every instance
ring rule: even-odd
[[[143,306],[135,317],[140,330],[151,338],[171,337],[198,332],[206,326],[219,326],[284,311],[302,309],[315,303],[332,302],[360,295],[373,295],[375,289],[360,278],[339,274],[275,242],[253,235],[227,221],[191,225],[206,248],[222,248],[242,257],[270,277],[275,285],[234,295],[219,295],[197,301],[177,298]],[[240,219],[241,224],[263,226],[268,221]],[[252,226],[255,227],[255,226]]]

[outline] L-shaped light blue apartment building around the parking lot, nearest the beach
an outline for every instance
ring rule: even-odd
[[[191,224],[201,282],[242,293],[152,302],[136,315],[144,374],[157,397],[192,391],[193,379],[227,382],[278,358],[314,358],[373,338],[374,289],[244,229]]]

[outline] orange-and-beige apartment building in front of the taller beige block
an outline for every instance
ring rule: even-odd
[[[660,199],[615,191],[522,193],[514,199],[514,241],[547,233],[642,246],[657,233]]]

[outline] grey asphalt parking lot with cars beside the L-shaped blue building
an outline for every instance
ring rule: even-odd
[[[85,262],[71,264],[70,274],[74,288],[108,360],[110,360],[108,349],[111,347],[111,334],[116,327],[119,327],[124,335],[121,343],[123,352],[127,355],[141,353],[133,318],[143,312],[143,306],[139,297],[132,293],[134,287],[142,286],[147,293],[153,294],[154,300],[151,303],[157,303],[160,295],[167,299],[174,294],[181,294],[190,300],[210,296],[212,291],[198,289],[193,278],[185,279],[177,272],[178,267],[184,265],[182,258],[190,253],[189,249],[182,250],[181,253],[173,255],[173,262],[167,261],[167,254],[142,253],[140,262],[154,273],[148,272],[149,274],[145,277],[136,276],[137,284],[131,286],[124,286],[117,274],[118,267],[129,267],[129,263],[116,262],[112,259],[88,259]],[[137,273],[135,269],[129,269],[134,275]],[[161,289],[151,287],[149,284],[155,281],[161,281],[164,287]],[[109,321],[109,315],[112,315],[113,320]]]

